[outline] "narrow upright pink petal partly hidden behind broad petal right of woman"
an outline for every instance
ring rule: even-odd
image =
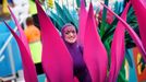
[[[80,24],[78,24],[78,44],[83,46],[84,43],[84,34],[85,34],[85,25],[87,19],[87,11],[85,8],[84,0],[81,0],[81,9],[80,9]]]

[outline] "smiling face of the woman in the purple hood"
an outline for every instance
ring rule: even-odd
[[[69,25],[63,30],[63,37],[66,43],[73,44],[77,39],[77,34],[73,25]]]

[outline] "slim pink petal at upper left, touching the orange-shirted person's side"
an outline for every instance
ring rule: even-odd
[[[28,51],[28,55],[31,55],[31,49],[29,49],[29,47],[28,47],[28,42],[27,42],[27,39],[26,39],[26,36],[25,36],[25,34],[24,34],[24,31],[22,30],[21,25],[19,24],[19,22],[17,22],[15,15],[13,14],[12,10],[10,9],[10,7],[8,7],[8,8],[9,8],[9,11],[10,11],[10,13],[11,13],[11,15],[12,15],[12,17],[13,17],[13,20],[14,20],[14,22],[15,22],[17,28],[19,28],[21,39],[22,39],[22,42],[24,43],[24,45],[25,45],[25,47],[26,47],[26,49],[27,49],[27,51]]]

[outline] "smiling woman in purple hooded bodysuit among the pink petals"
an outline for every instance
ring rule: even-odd
[[[74,75],[80,82],[92,82],[92,78],[83,60],[83,50],[76,42],[77,33],[75,27],[72,24],[65,24],[62,27],[61,33],[64,44],[66,45],[66,48],[73,58]]]

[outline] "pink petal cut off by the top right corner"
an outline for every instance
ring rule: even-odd
[[[146,50],[146,0],[131,0],[139,25],[139,35]]]

